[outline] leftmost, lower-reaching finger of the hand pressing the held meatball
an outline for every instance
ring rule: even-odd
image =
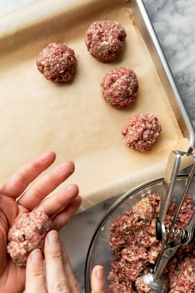
[[[25,292],[46,293],[43,256],[39,249],[33,250],[27,258]]]

